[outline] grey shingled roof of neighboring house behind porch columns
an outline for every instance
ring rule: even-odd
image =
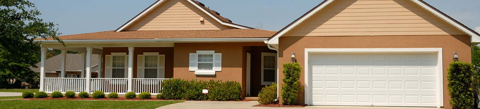
[[[92,54],[92,72],[98,72],[98,57],[97,54]],[[37,63],[37,68],[30,67],[35,72],[40,72],[40,63]],[[50,57],[45,60],[45,72],[52,73],[61,70],[61,54]],[[65,64],[66,71],[81,71],[82,70],[82,54],[67,54]]]

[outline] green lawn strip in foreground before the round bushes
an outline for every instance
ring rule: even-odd
[[[155,109],[183,101],[2,100],[0,109]]]

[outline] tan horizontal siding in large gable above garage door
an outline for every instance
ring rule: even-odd
[[[408,0],[336,0],[284,36],[465,34]]]

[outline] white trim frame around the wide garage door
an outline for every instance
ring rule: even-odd
[[[309,99],[309,55],[322,52],[388,53],[388,52],[436,52],[437,53],[437,108],[444,106],[443,92],[443,54],[442,48],[305,48],[305,104],[311,105]]]

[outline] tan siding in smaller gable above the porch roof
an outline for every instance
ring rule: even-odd
[[[204,18],[200,22],[200,18]],[[186,0],[167,0],[143,16],[127,31],[153,30],[227,30],[232,27],[217,22]]]

